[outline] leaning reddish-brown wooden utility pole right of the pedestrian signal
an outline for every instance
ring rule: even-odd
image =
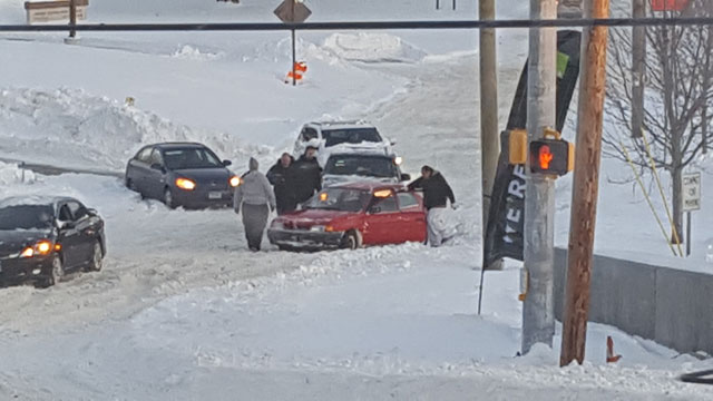
[[[585,0],[584,16],[585,18],[608,18],[609,0]],[[559,360],[563,366],[574,360],[579,363],[584,361],[587,340],[589,282],[602,159],[607,29],[590,27],[583,31],[584,59],[579,74],[575,176],[572,190],[567,285]]]

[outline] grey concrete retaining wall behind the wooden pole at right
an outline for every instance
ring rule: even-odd
[[[561,320],[566,250],[555,251],[555,315]],[[713,275],[594,257],[589,321],[678,352],[713,354]]]

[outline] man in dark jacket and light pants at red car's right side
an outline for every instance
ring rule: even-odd
[[[409,184],[410,190],[423,190],[423,206],[428,211],[428,244],[440,246],[448,238],[449,227],[446,221],[448,200],[456,208],[456,196],[443,176],[430,166],[421,167],[421,177]]]

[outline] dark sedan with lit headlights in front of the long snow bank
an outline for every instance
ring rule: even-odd
[[[165,143],[141,148],[126,166],[126,186],[166,206],[227,206],[241,183],[238,176],[202,144]]]

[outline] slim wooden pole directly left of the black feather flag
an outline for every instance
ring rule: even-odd
[[[495,19],[495,0],[480,0],[478,18]],[[498,70],[495,29],[480,30],[480,164],[482,183],[482,237],[486,237],[490,213],[490,197],[495,182],[500,136],[498,134]],[[484,270],[500,270],[501,263],[482,266]],[[482,288],[481,288],[482,290]]]

